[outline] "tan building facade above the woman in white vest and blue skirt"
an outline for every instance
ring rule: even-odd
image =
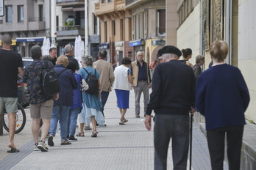
[[[124,56],[134,59],[131,40],[131,13],[125,10],[125,0],[100,0],[95,4],[95,15],[100,20],[99,49],[106,49],[108,61],[121,64]]]

